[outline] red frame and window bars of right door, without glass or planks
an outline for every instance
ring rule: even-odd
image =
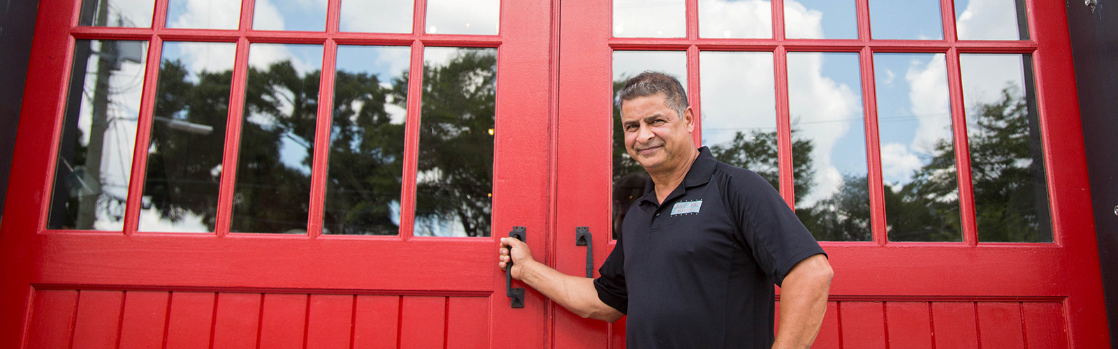
[[[688,91],[700,91],[702,50],[773,51],[776,73],[780,191],[793,206],[790,126],[786,53],[859,53],[865,110],[866,152],[871,186],[873,242],[824,242],[835,268],[832,301],[966,301],[1060,302],[1072,348],[1101,348],[1108,340],[1097,242],[1091,220],[1087,166],[1079,121],[1074,70],[1063,1],[1027,1],[1030,40],[958,40],[951,0],[941,0],[942,40],[870,39],[869,1],[856,0],[860,39],[787,39],[784,1],[773,0],[771,39],[711,39],[699,37],[699,0],[686,0],[686,37],[614,38],[609,0],[565,0],[560,32],[558,229],[556,265],[578,275],[581,247],[571,244],[576,226],[589,226],[599,248],[596,265],[614,243],[610,232],[612,177],[612,53],[614,50],[676,50],[688,55]],[[963,210],[963,243],[901,243],[885,236],[881,182],[873,53],[940,53],[947,55],[948,85]],[[1032,54],[1038,104],[1044,139],[1048,190],[1054,243],[978,243],[970,187],[966,119],[958,54]],[[701,114],[698,94],[691,104]],[[587,115],[598,115],[590,117]],[[701,122],[701,119],[698,119]],[[701,126],[701,125],[700,125]],[[701,128],[698,128],[701,132]],[[701,135],[697,132],[695,140]],[[571,232],[571,233],[568,233]],[[568,235],[569,234],[569,235]],[[571,237],[568,237],[571,236]],[[880,313],[879,313],[880,314]],[[558,311],[555,346],[576,347],[581,340],[609,340],[624,347],[618,326],[606,329],[569,312]],[[623,323],[623,322],[622,322]],[[623,328],[623,324],[622,324]],[[951,333],[947,333],[951,336]],[[847,346],[852,343],[847,341]]]

